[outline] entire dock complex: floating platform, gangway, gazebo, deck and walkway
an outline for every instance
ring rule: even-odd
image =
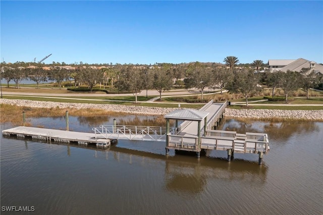
[[[228,101],[217,103],[211,100],[200,110],[175,110],[164,116],[166,127],[117,125],[115,119],[113,125],[92,128],[94,133],[73,132],[68,131],[67,113],[66,131],[19,126],[4,130],[3,135],[67,144],[77,143],[81,146],[91,144],[97,148],[107,148],[112,141],[119,139],[163,141],[166,142],[166,154],[173,149],[196,152],[197,157],[200,157],[200,153],[206,150],[226,150],[228,161],[233,159],[234,153],[253,153],[259,155],[259,164],[262,164],[263,154],[270,151],[267,134],[250,132],[239,134],[235,131],[216,130],[223,119],[227,105]],[[172,128],[170,120],[175,121]],[[179,121],[184,122],[179,125]]]

